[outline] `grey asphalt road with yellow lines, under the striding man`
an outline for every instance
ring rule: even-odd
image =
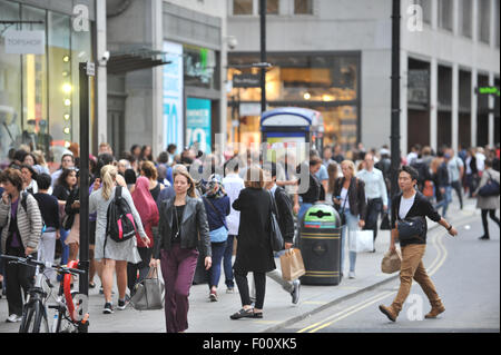
[[[400,280],[364,293],[314,314],[279,333],[499,333],[500,230],[490,221],[491,240],[482,241],[480,216],[458,225],[453,238],[440,230],[426,247],[424,265],[446,310],[423,319],[430,310],[426,296],[413,284],[410,297],[393,323],[380,310],[389,306]]]

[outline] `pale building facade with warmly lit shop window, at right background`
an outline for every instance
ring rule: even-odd
[[[258,3],[228,0],[228,36],[238,41],[230,82],[257,73],[245,66],[259,59]],[[321,111],[324,141],[345,149],[390,144],[391,12],[391,0],[267,0],[268,108]],[[402,152],[499,142],[499,109],[490,111],[499,96],[475,93],[499,87],[499,0],[405,0],[401,16]],[[230,141],[259,141],[259,88],[233,87]]]

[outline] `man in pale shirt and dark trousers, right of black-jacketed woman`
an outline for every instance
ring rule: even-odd
[[[374,241],[377,237],[377,218],[383,210],[387,211],[386,184],[383,172],[374,168],[374,156],[366,154],[365,169],[360,170],[356,177],[365,184],[365,197],[367,198],[367,216],[365,217],[365,230],[373,230]],[[375,248],[373,253],[375,252]]]

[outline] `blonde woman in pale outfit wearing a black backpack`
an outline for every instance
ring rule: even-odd
[[[95,185],[95,190],[89,198],[89,213],[97,211],[96,220],[96,250],[95,259],[104,259],[102,263],[102,289],[105,293],[105,314],[114,312],[111,302],[111,287],[114,284],[114,270],[117,272],[118,284],[118,309],[125,309],[125,295],[127,289],[127,263],[138,264],[141,258],[137,252],[136,238],[130,238],[121,243],[117,243],[111,238],[106,240],[106,258],[105,258],[105,239],[108,206],[115,198],[116,184],[120,184],[121,196],[127,201],[134,215],[134,220],[137,223],[136,228],[139,236],[146,245],[150,244],[148,236],[143,228],[141,218],[134,206],[132,197],[130,196],[127,185],[124,179],[117,180],[118,170],[116,167],[107,165],[101,169],[102,187],[99,184]],[[124,186],[125,185],[125,186]]]

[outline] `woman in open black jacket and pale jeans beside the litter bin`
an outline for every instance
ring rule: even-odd
[[[341,162],[341,169],[343,177],[334,184],[333,201],[340,215],[345,217],[341,235],[341,275],[343,275],[346,236],[352,243],[356,241],[351,238],[356,238],[356,230],[365,226],[367,205],[365,203],[365,184],[355,177],[355,164],[352,160],[344,160]],[[356,252],[350,250],[350,278],[355,278],[355,264]]]

